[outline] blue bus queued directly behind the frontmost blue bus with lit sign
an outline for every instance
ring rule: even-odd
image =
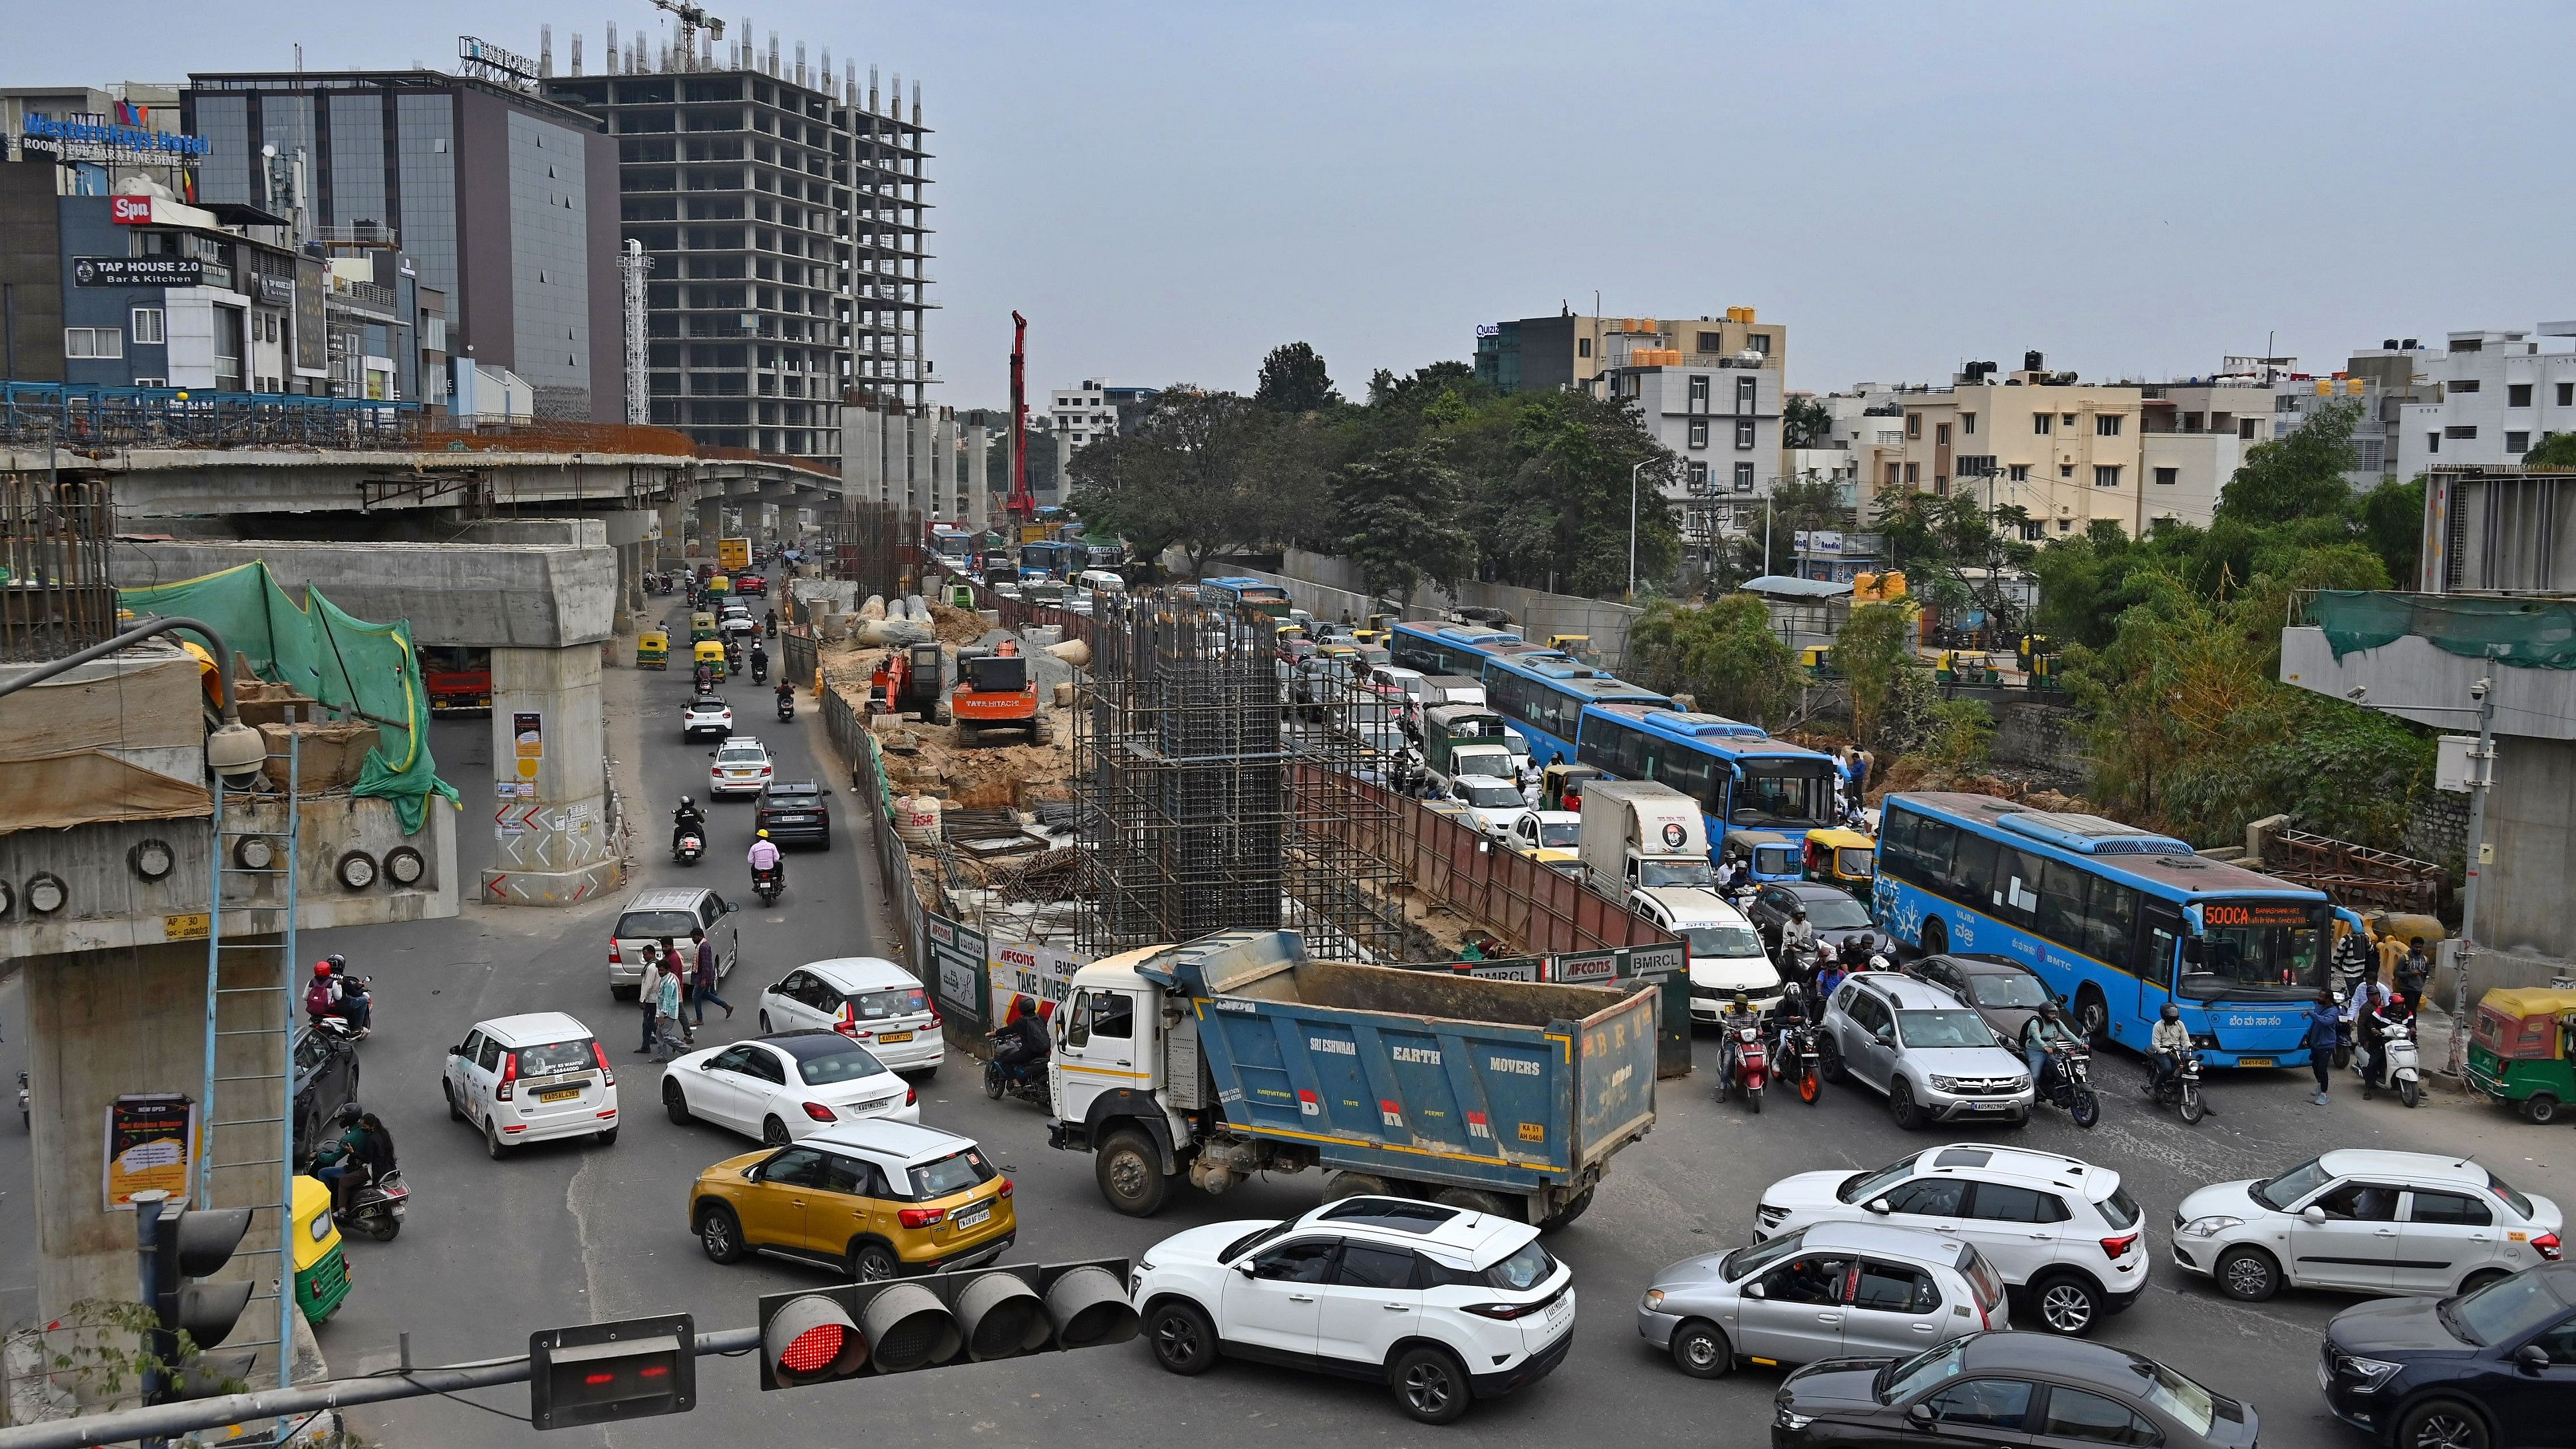
[[[1762,726],[1664,705],[1587,705],[1574,759],[1615,780],[1662,780],[1700,803],[1710,860],[1744,847],[1762,880],[1795,880],[1806,831],[1834,824],[1834,759]],[[1775,836],[1790,844],[1775,849]]]

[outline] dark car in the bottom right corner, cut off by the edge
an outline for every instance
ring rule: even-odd
[[[2380,1297],[2326,1325],[2326,1408],[2396,1449],[2566,1444],[2576,1264],[2458,1297]]]

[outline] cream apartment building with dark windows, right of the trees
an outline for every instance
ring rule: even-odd
[[[2020,504],[2032,540],[2084,533],[2094,520],[2136,533],[2148,517],[2143,389],[2079,383],[2045,371],[2040,353],[1991,378],[1994,363],[1971,363],[1947,389],[1899,391],[1904,456],[1878,461],[1878,494],[1965,489],[1986,507]]]

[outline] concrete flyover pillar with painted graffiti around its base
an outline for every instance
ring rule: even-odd
[[[572,906],[626,878],[611,844],[598,643],[492,651],[492,777],[523,793],[495,800],[487,903]]]

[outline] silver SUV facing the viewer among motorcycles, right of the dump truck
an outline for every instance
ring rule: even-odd
[[[1824,1004],[1824,1076],[1888,1096],[1904,1130],[1929,1122],[2030,1122],[2030,1071],[1994,1045],[1958,996],[1893,970],[1860,970]]]

